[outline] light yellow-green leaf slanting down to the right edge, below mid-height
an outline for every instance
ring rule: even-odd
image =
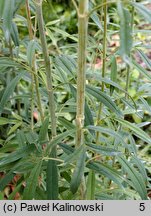
[[[145,133],[142,129],[137,127],[135,124],[119,118],[115,118],[115,120],[121,123],[124,127],[129,128],[135,134],[135,136],[137,136],[144,142],[151,144],[151,138],[149,137],[149,135]]]

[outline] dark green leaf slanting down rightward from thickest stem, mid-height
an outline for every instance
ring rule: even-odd
[[[101,92],[98,88],[88,86],[86,87],[86,91],[95,97],[98,101],[102,102],[105,106],[107,106],[110,110],[115,112],[117,115],[121,116],[122,113],[116,104],[111,100],[111,98],[106,95],[104,92]]]

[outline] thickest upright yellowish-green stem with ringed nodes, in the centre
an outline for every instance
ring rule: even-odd
[[[86,47],[88,31],[88,0],[79,1],[78,13],[78,74],[77,74],[77,111],[76,111],[76,146],[84,144],[84,106],[86,80]]]

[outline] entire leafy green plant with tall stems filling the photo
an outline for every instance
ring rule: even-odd
[[[149,2],[72,0],[76,34],[42,3],[0,3],[3,198],[149,199]]]

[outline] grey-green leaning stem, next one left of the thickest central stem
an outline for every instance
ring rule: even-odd
[[[36,0],[35,3],[36,3],[36,14],[37,14],[38,27],[39,27],[40,40],[41,40],[44,63],[46,68],[49,112],[51,118],[51,139],[53,139],[56,136],[56,116],[55,116],[55,100],[54,100],[54,93],[53,93],[53,86],[52,86],[52,72],[51,72],[51,65],[50,65],[50,59],[48,54],[46,35],[44,30],[42,0]]]

